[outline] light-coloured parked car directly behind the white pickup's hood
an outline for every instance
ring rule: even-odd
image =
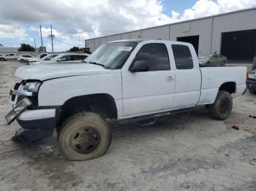
[[[41,62],[41,63],[67,63],[67,62],[72,63],[72,62],[83,61],[88,56],[89,56],[88,54],[62,53],[57,55],[55,58],[51,59],[50,61]],[[33,63],[33,64],[37,64],[37,63]]]

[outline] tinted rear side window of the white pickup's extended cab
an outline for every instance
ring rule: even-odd
[[[188,46],[182,44],[173,44],[172,49],[176,69],[193,69],[193,59]]]

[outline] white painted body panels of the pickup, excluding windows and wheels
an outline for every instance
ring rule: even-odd
[[[167,71],[129,71],[135,55],[144,44],[164,43],[170,59]],[[193,69],[176,69],[171,44],[184,44],[192,52]],[[69,98],[105,93],[116,101],[118,119],[213,104],[219,87],[236,82],[236,95],[246,87],[246,67],[211,67],[199,69],[191,44],[161,40],[140,42],[122,69],[83,64],[42,64],[25,66],[16,71],[22,79],[46,80],[39,88],[39,106],[63,105]],[[172,77],[173,80],[168,80]],[[202,79],[202,81],[201,81]]]

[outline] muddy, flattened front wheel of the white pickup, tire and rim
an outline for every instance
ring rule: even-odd
[[[81,112],[64,122],[58,131],[59,151],[67,160],[89,160],[108,151],[110,128],[98,114]]]

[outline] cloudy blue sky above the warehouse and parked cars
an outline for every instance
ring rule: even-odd
[[[44,46],[50,51],[50,23],[54,49],[84,46],[84,39],[159,26],[180,20],[255,7],[256,0],[1,0],[0,44]],[[79,43],[80,36],[80,43]]]

